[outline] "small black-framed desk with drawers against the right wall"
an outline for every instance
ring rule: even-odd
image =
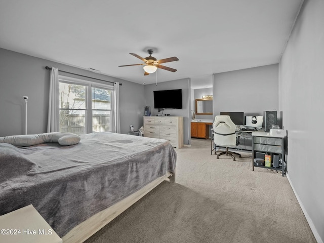
[[[285,147],[284,147],[284,138],[286,136],[271,136],[269,133],[265,132],[253,132],[252,133],[252,170],[254,171],[254,167],[261,167],[271,170],[281,171],[282,176],[286,174],[287,164],[284,161],[285,157]],[[265,167],[258,166],[254,163],[254,159],[260,156],[264,156],[264,154],[269,154],[271,156],[271,161],[273,159],[278,159],[278,167]],[[263,157],[264,158],[264,157]],[[281,161],[281,163],[280,163]]]

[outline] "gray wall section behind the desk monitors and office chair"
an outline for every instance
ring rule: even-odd
[[[278,64],[213,75],[214,117],[220,112],[263,115],[278,110]]]

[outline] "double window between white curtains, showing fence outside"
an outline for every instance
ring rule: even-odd
[[[59,76],[60,132],[111,132],[113,87]]]

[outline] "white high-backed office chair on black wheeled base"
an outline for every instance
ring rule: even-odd
[[[229,115],[216,115],[213,123],[213,130],[215,145],[226,148],[225,151],[217,155],[217,158],[223,154],[230,155],[233,158],[233,161],[235,161],[233,154],[236,154],[241,158],[239,153],[228,151],[229,147],[236,146],[235,124]]]

